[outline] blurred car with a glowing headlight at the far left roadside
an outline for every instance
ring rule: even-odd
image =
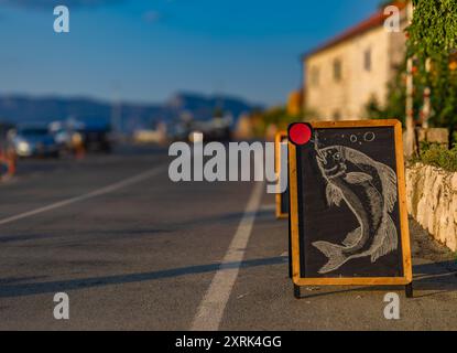
[[[55,157],[59,147],[47,126],[20,126],[8,133],[8,145],[18,157]]]

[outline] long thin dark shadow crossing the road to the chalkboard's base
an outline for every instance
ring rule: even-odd
[[[123,285],[132,282],[142,282],[156,279],[166,279],[186,275],[197,275],[205,272],[213,272],[219,269],[232,269],[232,268],[249,268],[260,266],[281,265],[287,261],[287,257],[279,256],[271,258],[261,258],[244,260],[241,263],[227,263],[227,264],[210,264],[200,266],[189,266],[182,268],[174,268],[153,272],[143,274],[130,274],[119,276],[107,276],[107,277],[94,277],[83,279],[72,279],[62,281],[51,282],[33,282],[33,284],[18,284],[21,281],[30,280],[30,278],[14,278],[0,280],[0,298],[11,297],[24,297],[43,293],[56,293],[59,291],[78,290],[94,287],[104,287],[112,285]],[[13,284],[13,285],[9,285]],[[7,286],[4,286],[7,285]]]

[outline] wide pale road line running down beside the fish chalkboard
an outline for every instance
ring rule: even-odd
[[[255,214],[259,211],[263,188],[264,185],[262,182],[255,183],[246,206],[243,217],[238,225],[238,229],[235,233],[233,239],[231,240],[218,271],[213,278],[211,284],[198,307],[191,330],[216,331],[219,329],[224,311],[240,269],[240,265],[229,267],[227,264],[241,264],[243,260],[246,247],[255,221]]]

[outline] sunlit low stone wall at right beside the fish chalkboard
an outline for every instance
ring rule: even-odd
[[[457,173],[421,163],[406,168],[409,213],[436,240],[457,252]]]

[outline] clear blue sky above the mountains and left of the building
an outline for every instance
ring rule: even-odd
[[[53,31],[67,4],[70,33]],[[157,103],[176,92],[275,105],[300,55],[380,0],[0,0],[0,93]]]

